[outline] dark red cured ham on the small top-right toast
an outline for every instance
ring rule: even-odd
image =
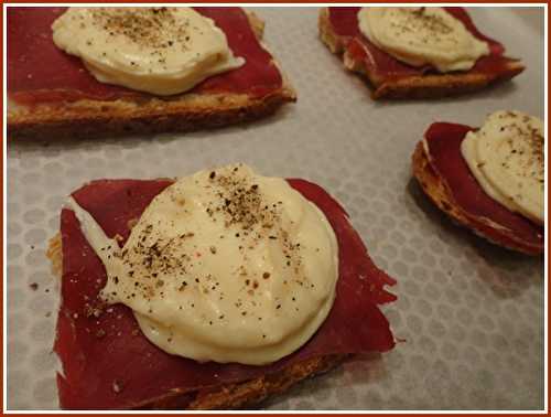
[[[358,7],[329,8],[329,22],[335,33],[346,39],[345,49],[347,49],[356,60],[363,61],[375,78],[396,79],[436,72],[435,68],[430,65],[413,67],[404,64],[375,46],[359,30],[357,19],[359,9]],[[484,73],[498,76],[500,73],[509,72],[507,70],[507,64],[514,60],[503,56],[505,49],[499,42],[482,34],[463,8],[447,7],[444,9],[450,14],[461,20],[475,38],[487,42],[489,45],[490,55],[480,57],[468,73]]]

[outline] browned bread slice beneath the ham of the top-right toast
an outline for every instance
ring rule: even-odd
[[[346,47],[347,40],[339,36],[329,21],[328,8],[323,8],[318,15],[320,39],[336,55],[342,56],[344,66],[366,77],[374,87],[371,97],[380,98],[441,98],[473,93],[490,84],[512,78],[525,66],[520,61],[507,63],[507,71],[499,75],[485,73],[449,73],[410,75],[400,78],[386,78],[375,74],[364,61],[356,60]]]

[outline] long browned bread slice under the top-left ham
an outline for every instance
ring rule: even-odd
[[[263,21],[249,11],[247,17],[260,41]],[[247,94],[184,93],[170,98],[79,99],[32,107],[8,100],[8,137],[58,139],[185,132],[255,120],[273,114],[285,103],[296,100],[288,77],[281,70],[280,73],[283,78],[281,87],[261,98]]]

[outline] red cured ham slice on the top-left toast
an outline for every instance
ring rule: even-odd
[[[99,83],[82,61],[57,49],[52,41],[53,21],[66,8],[9,8],[8,93],[22,104],[76,100],[114,100],[121,97],[150,98],[147,93]],[[195,8],[213,19],[226,33],[240,68],[207,78],[193,93],[236,93],[264,97],[281,88],[281,73],[272,56],[257,40],[240,8]]]

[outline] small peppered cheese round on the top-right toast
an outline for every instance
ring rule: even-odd
[[[486,42],[442,8],[361,8],[358,23],[376,46],[412,66],[467,71],[489,54]]]

